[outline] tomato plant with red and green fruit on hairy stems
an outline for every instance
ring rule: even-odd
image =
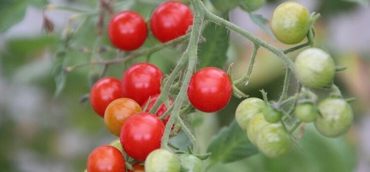
[[[91,105],[104,116],[111,134],[119,136],[119,142],[115,140],[111,146],[98,147],[90,154],[89,172],[96,169],[204,172],[216,163],[238,161],[258,152],[269,158],[287,155],[294,146],[293,141],[304,133],[302,123],[314,122],[317,131],[327,137],[337,137],[349,130],[353,121],[353,112],[347,102],[350,99],[344,99],[340,89],[333,84],[335,73],[344,67],[335,66],[329,52],[315,48],[314,24],[320,14],[310,14],[298,2],[284,2],[276,7],[269,28],[266,25],[268,19],[255,12],[267,3],[265,0],[210,2],[212,5],[204,4],[202,0],[190,0],[189,3],[101,0],[96,11],[73,9],[77,14],[69,21],[61,40],[62,48],[56,53],[56,92],[65,85],[66,74],[93,66],[90,74],[94,75],[90,82],[96,81],[95,78],[100,80],[91,88]],[[147,6],[140,6],[143,4]],[[296,44],[306,37],[307,42],[281,49],[231,23],[227,17],[222,18],[237,6],[280,42]],[[141,7],[143,10],[139,10]],[[152,13],[144,12],[147,8]],[[131,11],[133,9],[137,12]],[[113,16],[108,25],[105,22],[107,16]],[[148,16],[148,25],[142,16]],[[97,40],[91,50],[81,50],[91,55],[88,62],[67,66],[75,62],[68,60],[67,53],[78,45],[75,41],[78,29],[71,28],[74,27],[72,22],[79,18],[96,21]],[[108,37],[102,30],[108,30]],[[229,45],[228,31],[247,38],[253,46],[249,64],[243,64],[246,72],[239,79],[234,78],[232,66],[236,58],[227,58],[229,54],[236,54],[231,52],[233,45]],[[142,46],[147,37],[147,43]],[[115,48],[106,45],[105,38],[109,38]],[[295,62],[288,57],[306,47],[309,48],[297,53]],[[139,50],[133,51],[136,49]],[[249,83],[256,78],[252,77],[252,72],[260,49],[271,52],[285,65],[284,84],[276,100],[270,96],[275,94],[274,91],[267,96],[263,89],[260,90],[263,100],[247,98]],[[171,60],[160,61],[167,56],[170,58],[166,59]],[[144,60],[146,62],[142,62]],[[172,63],[175,61],[176,64]],[[227,68],[226,63],[229,64],[227,72],[223,70]],[[120,64],[115,66],[118,70],[111,70],[113,64]],[[154,64],[171,72],[163,74]],[[122,71],[127,65],[131,66]],[[99,70],[100,75],[95,75]],[[122,80],[105,78],[106,75],[122,75]],[[296,76],[296,82],[291,81],[291,76]],[[316,107],[316,101],[322,96],[313,90],[317,88],[326,88],[322,92],[330,97]],[[232,105],[227,106],[232,95]],[[236,103],[239,105],[233,109]],[[199,144],[201,137],[196,137],[192,130],[202,122],[213,124],[215,121],[206,121],[196,112],[225,114],[222,109],[228,112],[228,117],[235,112],[235,120],[229,127],[221,129],[206,152],[200,154],[199,147],[204,145]],[[232,113],[229,113],[230,109]],[[179,134],[189,140],[183,144],[191,144],[172,142],[171,139]],[[123,157],[127,157],[127,161]]]

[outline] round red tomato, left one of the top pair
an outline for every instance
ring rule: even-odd
[[[123,51],[132,51],[144,44],[148,29],[140,14],[134,11],[122,11],[112,17],[108,34],[115,47]]]

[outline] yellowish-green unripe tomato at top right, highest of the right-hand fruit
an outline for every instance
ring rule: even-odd
[[[287,1],[275,9],[271,29],[280,42],[296,44],[307,36],[310,20],[310,12],[306,7],[298,2]]]

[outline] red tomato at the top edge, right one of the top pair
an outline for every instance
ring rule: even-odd
[[[193,12],[181,2],[167,1],[159,5],[150,19],[155,38],[167,42],[182,35],[193,25]]]

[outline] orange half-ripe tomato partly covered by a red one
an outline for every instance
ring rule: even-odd
[[[120,98],[108,105],[104,114],[104,122],[111,134],[119,136],[123,123],[139,112],[142,112],[141,107],[134,100]]]

